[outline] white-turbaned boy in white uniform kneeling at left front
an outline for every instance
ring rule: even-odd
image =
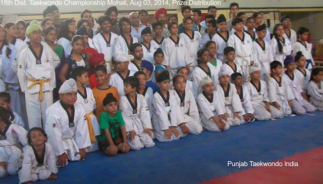
[[[79,104],[75,104],[77,100],[75,80],[66,80],[59,94],[61,100],[46,110],[45,129],[58,167],[66,166],[67,160],[84,160],[85,148],[91,146],[84,109]]]

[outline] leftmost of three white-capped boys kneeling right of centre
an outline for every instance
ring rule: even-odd
[[[212,79],[206,75],[200,82],[203,93],[197,97],[197,107],[200,112],[201,125],[213,132],[228,130],[232,124],[231,118],[225,116],[221,94],[214,90]]]

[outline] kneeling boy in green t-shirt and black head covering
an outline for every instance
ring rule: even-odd
[[[104,112],[100,115],[100,132],[97,137],[99,147],[108,156],[129,152],[125,122],[118,110],[117,99],[112,93],[103,99]]]

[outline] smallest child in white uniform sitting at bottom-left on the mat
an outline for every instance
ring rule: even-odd
[[[57,179],[55,154],[47,141],[42,128],[33,127],[27,133],[28,144],[24,151],[24,160],[19,170],[19,183],[35,182],[45,179]]]

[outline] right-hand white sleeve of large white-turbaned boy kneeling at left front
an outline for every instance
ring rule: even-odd
[[[78,120],[76,124],[75,139],[76,144],[79,149],[86,148],[91,146],[89,129],[87,127],[87,121],[84,114],[84,109],[82,106],[79,106]]]

